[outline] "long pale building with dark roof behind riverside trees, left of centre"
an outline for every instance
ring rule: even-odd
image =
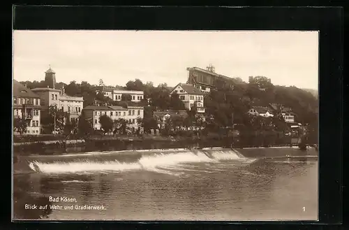
[[[123,119],[127,121],[127,126],[132,131],[140,129],[138,118],[144,117],[144,107],[142,106],[86,106],[83,109],[84,118],[92,122],[94,129],[101,129],[99,118],[102,115],[107,115],[113,121]]]

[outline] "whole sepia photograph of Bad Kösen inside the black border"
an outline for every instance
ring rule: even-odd
[[[13,30],[13,220],[318,220],[318,31]]]

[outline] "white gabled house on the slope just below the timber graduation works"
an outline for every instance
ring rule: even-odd
[[[205,106],[204,106],[205,94],[200,89],[190,84],[179,83],[172,89],[172,91],[170,92],[170,95],[174,93],[179,95],[179,99],[183,101],[184,107],[187,108],[188,110],[191,110],[192,108],[196,108],[197,113],[205,113]]]

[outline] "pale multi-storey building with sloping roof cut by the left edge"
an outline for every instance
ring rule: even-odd
[[[40,116],[40,96],[13,80],[13,117],[27,122],[26,134],[40,134]]]

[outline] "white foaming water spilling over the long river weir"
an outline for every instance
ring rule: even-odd
[[[126,158],[132,159],[126,159]],[[29,162],[29,167],[40,173],[84,173],[110,171],[161,171],[166,166],[195,164],[200,162],[251,161],[237,150],[150,150],[91,152],[42,157]]]

